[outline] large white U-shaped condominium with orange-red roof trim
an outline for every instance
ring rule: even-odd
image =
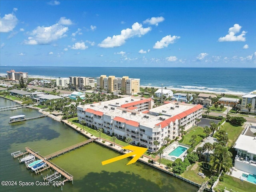
[[[132,138],[136,145],[150,151],[164,145],[164,138],[174,139],[180,135],[179,127],[185,130],[202,117],[202,106],[170,102],[152,108],[151,99],[119,98],[95,104],[78,105],[78,120],[94,129],[102,128],[106,134],[119,139]],[[157,140],[159,145],[155,146]]]

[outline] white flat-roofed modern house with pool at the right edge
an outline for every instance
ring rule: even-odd
[[[234,144],[235,168],[256,175],[256,137],[240,135]]]

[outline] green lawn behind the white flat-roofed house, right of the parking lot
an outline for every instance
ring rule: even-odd
[[[244,128],[242,126],[233,126],[229,122],[226,122],[220,130],[224,130],[228,133],[228,145],[233,146],[243,129]]]

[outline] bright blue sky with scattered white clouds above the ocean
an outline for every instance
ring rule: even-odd
[[[256,67],[255,10],[255,0],[0,0],[0,66]]]

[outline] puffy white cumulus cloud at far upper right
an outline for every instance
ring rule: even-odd
[[[237,34],[238,32],[240,32],[240,29],[242,28],[242,26],[240,26],[239,24],[234,24],[233,27],[230,27],[228,30],[228,34],[224,37],[220,37],[218,39],[218,41],[220,42],[224,42],[224,41],[245,41],[245,31],[242,31],[242,33],[238,36],[235,36],[235,34]]]

